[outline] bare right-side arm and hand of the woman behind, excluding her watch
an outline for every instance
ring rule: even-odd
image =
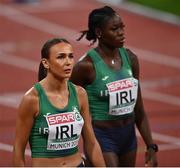
[[[130,50],[127,49],[131,66],[132,66],[132,71],[133,71],[133,76],[134,78],[139,80],[139,62],[137,56],[131,52]],[[151,129],[148,121],[147,114],[144,110],[144,105],[143,105],[143,100],[142,100],[142,95],[141,95],[141,87],[140,87],[140,82],[139,82],[139,87],[138,87],[138,97],[137,97],[137,102],[135,106],[135,122],[136,126],[146,144],[148,147],[150,144],[153,144],[153,139],[152,139],[152,134],[151,134]],[[157,166],[157,157],[156,153],[154,150],[148,150],[146,152],[146,160],[145,163],[148,166]]]

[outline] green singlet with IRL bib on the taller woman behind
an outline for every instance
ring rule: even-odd
[[[96,72],[92,84],[85,87],[93,120],[118,120],[134,115],[138,80],[133,78],[126,50],[119,49],[122,66],[110,68],[96,52],[88,51]]]

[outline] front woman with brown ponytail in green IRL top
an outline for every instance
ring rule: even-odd
[[[32,166],[84,167],[81,135],[93,166],[105,166],[86,91],[69,81],[73,65],[73,48],[67,40],[54,38],[43,45],[39,82],[26,92],[18,108],[14,166],[25,166],[29,141]]]

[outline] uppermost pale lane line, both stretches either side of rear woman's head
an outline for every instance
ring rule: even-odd
[[[8,7],[7,5],[0,5],[0,14],[4,15],[5,17],[17,23],[21,23],[31,28],[34,28],[34,29],[37,29],[37,30],[40,30],[49,34],[53,34],[56,36],[63,35],[64,37],[72,41],[75,41],[77,37],[80,35],[79,32],[74,29],[60,26],[58,24],[51,23],[47,20],[43,20],[35,16],[31,16],[17,9]],[[86,41],[85,39],[83,39],[82,41],[79,41],[79,43],[84,44],[84,45],[89,44],[89,42]],[[174,67],[174,68],[180,69],[179,58],[175,58],[173,56],[166,56],[163,54],[159,54],[159,53],[155,53],[155,52],[147,51],[143,49],[138,49],[133,46],[129,46],[129,48],[136,51],[140,59],[157,63],[160,65],[166,65],[168,67]]]

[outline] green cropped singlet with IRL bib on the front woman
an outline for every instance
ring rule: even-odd
[[[84,120],[79,112],[75,86],[68,82],[69,101],[64,109],[49,101],[40,83],[34,87],[39,95],[40,111],[29,138],[32,157],[55,158],[76,153]]]

